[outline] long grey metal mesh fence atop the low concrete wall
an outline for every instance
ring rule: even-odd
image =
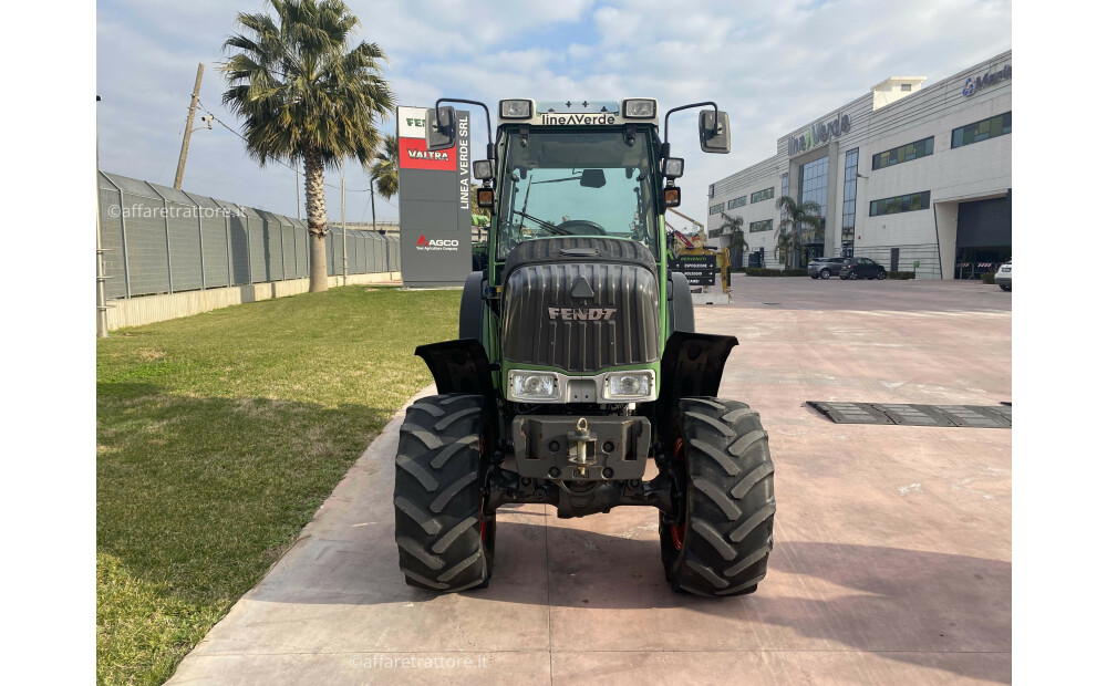
[[[108,299],[304,279],[308,222],[100,173]],[[327,273],[400,271],[400,239],[340,227],[327,235]]]

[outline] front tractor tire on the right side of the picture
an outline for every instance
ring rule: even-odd
[[[661,557],[673,590],[753,593],[773,550],[773,460],[761,417],[745,403],[681,398],[673,469],[685,493],[681,521],[661,521]]]

